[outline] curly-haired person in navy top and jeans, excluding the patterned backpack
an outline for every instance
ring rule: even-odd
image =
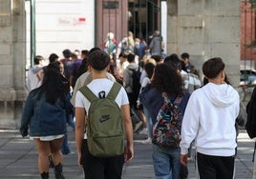
[[[152,83],[142,89],[139,100],[149,110],[153,123],[166,96],[171,102],[181,97],[180,108],[184,112],[189,93],[182,89],[181,75],[166,64],[156,66],[152,76]],[[153,164],[156,178],[178,179],[181,169],[180,152],[178,148],[166,148],[153,144]]]

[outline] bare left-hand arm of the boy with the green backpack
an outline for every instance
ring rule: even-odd
[[[85,109],[84,108],[75,108],[75,143],[76,143],[76,152],[78,157],[78,166],[82,167],[80,163],[82,157],[82,143],[84,138],[84,129],[85,129]]]

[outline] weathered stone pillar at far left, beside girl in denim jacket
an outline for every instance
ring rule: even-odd
[[[16,129],[27,96],[24,1],[2,0],[0,11],[0,129]]]

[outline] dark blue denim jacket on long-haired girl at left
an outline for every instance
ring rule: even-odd
[[[66,103],[57,100],[54,105],[46,102],[45,94],[40,99],[37,93],[32,91],[23,109],[20,133],[27,136],[30,129],[30,136],[49,136],[66,133],[67,111],[70,105],[70,96],[67,95]]]

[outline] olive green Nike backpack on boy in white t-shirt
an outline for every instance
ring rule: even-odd
[[[97,98],[87,86],[79,89],[91,102],[87,113],[87,144],[94,156],[111,157],[124,153],[123,118],[115,102],[120,88],[114,83],[105,98]]]

